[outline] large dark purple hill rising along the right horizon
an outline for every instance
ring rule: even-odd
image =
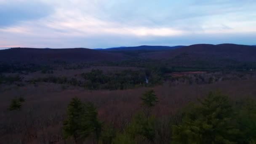
[[[256,61],[256,48],[250,45],[236,44],[196,44],[182,48],[173,49],[172,51],[159,51],[152,53],[143,53],[141,56],[151,59],[230,59],[236,61]]]

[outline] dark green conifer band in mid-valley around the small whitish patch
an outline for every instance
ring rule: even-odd
[[[39,77],[29,80],[30,83],[46,82],[80,86],[89,90],[123,90],[142,86],[153,86],[163,83],[163,75],[154,70],[123,70],[120,72],[104,73],[99,69],[82,73],[82,79],[75,77]]]

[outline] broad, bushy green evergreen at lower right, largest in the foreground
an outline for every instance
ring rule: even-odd
[[[235,144],[236,128],[233,107],[227,96],[210,93],[194,104],[179,125],[173,126],[173,144]]]

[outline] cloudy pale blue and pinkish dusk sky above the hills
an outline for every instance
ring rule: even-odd
[[[0,48],[256,45],[256,0],[0,0]]]

